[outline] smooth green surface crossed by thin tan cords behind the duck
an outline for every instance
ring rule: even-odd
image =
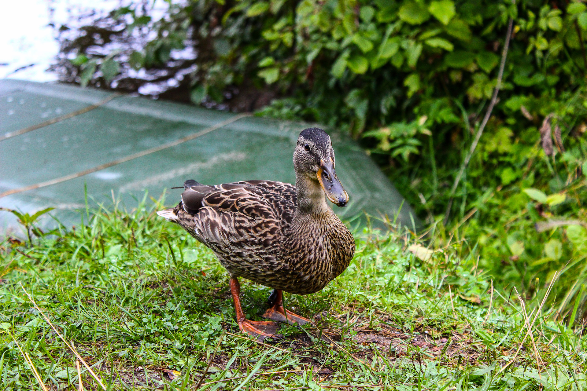
[[[108,91],[63,84],[0,80],[0,140],[8,133],[75,113],[112,96]],[[114,161],[178,140],[234,117],[235,113],[141,97],[117,96],[93,110],[0,141],[0,193]],[[127,208],[144,192],[158,198],[185,179],[214,184],[244,179],[295,182],[292,152],[299,132],[312,124],[241,118],[231,124],[162,151],[46,186],[0,198],[0,207],[52,212],[76,225],[83,208],[84,185],[90,204],[112,203],[112,193]],[[336,173],[349,193],[346,208],[333,207],[350,219],[361,212],[375,217],[397,215],[417,226],[411,208],[365,152],[349,137],[328,130],[336,152]],[[168,190],[166,204],[181,191]],[[403,205],[402,205],[403,204]],[[90,205],[91,206],[91,205]],[[401,210],[400,210],[401,208]],[[398,210],[400,210],[398,214]],[[43,224],[50,225],[46,217]],[[16,229],[9,213],[0,213],[0,230]]]

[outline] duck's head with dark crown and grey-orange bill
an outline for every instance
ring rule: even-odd
[[[330,136],[320,128],[303,130],[294,151],[296,176],[303,175],[318,182],[326,197],[336,206],[346,206],[349,195],[335,172],[334,149]]]

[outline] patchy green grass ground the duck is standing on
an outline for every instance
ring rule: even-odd
[[[109,390],[193,390],[204,373],[206,390],[587,388],[583,330],[539,309],[546,288],[523,301],[492,294],[460,244],[422,261],[410,233],[355,232],[342,276],[285,296],[315,324],[261,345],[239,333],[214,254],[153,210],[96,210],[73,230],[0,243],[1,389],[42,389],[25,353],[48,389],[78,389],[76,357],[26,293]],[[245,312],[261,319],[269,288],[241,284]],[[81,369],[85,389],[102,389]]]

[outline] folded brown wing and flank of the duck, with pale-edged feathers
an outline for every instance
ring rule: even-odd
[[[259,274],[285,267],[278,254],[295,196],[294,186],[286,183],[242,181],[187,188],[181,204],[194,216],[195,236],[231,274],[258,280]]]

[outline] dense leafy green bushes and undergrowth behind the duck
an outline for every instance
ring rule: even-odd
[[[445,219],[510,18],[499,101]],[[61,31],[63,81],[349,132],[426,220],[433,246],[464,240],[498,284],[527,297],[566,265],[552,297],[563,317],[585,308],[582,2],[169,1],[162,18],[133,3]]]

